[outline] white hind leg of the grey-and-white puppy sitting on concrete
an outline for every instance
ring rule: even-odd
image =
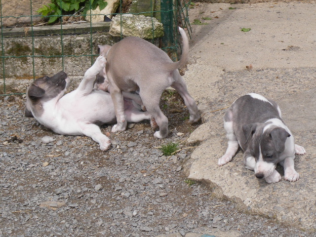
[[[227,117],[229,117],[229,113],[231,112],[227,111],[225,113],[225,118],[224,118],[224,128],[226,131],[226,137],[228,139],[228,147],[227,147],[225,155],[218,159],[219,166],[222,166],[228,163],[229,161],[231,161],[232,158],[235,156],[239,147],[239,144],[238,144],[238,141],[233,129],[233,121],[231,121],[230,119],[227,119]]]

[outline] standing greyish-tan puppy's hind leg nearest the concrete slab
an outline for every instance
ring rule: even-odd
[[[174,88],[183,98],[185,105],[188,107],[190,113],[189,123],[195,123],[199,120],[200,116],[197,109],[197,103],[189,94],[187,86],[184,79],[181,77],[178,69],[173,71],[173,77],[175,81],[172,83],[171,87]]]

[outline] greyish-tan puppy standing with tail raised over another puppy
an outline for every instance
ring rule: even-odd
[[[179,31],[183,39],[183,51],[178,62],[172,62],[164,51],[138,37],[127,37],[112,47],[99,45],[100,53],[107,58],[106,77],[117,116],[117,124],[113,126],[112,132],[126,129],[122,91],[139,91],[144,106],[152,115],[152,126],[155,126],[155,120],[159,126],[160,130],[154,134],[156,138],[165,138],[169,133],[168,118],[159,108],[161,94],[169,86],[178,91],[188,107],[189,123],[199,120],[197,104],[178,71],[187,62],[189,54],[188,37],[183,29],[179,28]]]

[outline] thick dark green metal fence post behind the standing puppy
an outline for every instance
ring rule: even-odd
[[[177,59],[177,53],[172,48],[174,43],[173,37],[173,1],[160,0],[161,23],[163,24],[164,35],[161,39],[161,48],[167,52],[171,59]]]

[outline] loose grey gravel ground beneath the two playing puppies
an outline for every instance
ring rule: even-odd
[[[242,213],[183,171],[195,144],[172,157],[159,146],[185,141],[197,125],[177,95],[161,107],[172,133],[153,137],[149,122],[111,135],[111,150],[81,136],[57,135],[24,117],[25,95],[0,98],[0,237],[142,237],[236,230],[242,237],[302,237],[272,219]],[[103,126],[109,132],[111,126]]]

